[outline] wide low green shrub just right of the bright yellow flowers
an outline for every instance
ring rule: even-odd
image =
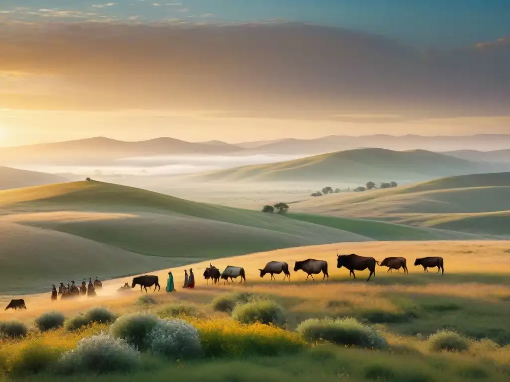
[[[309,341],[327,341],[339,345],[370,349],[386,348],[386,340],[354,318],[311,318],[299,324],[297,331]]]

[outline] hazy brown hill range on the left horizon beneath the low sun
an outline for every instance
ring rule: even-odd
[[[230,154],[243,149],[224,142],[192,143],[174,138],[124,142],[104,137],[75,141],[0,148],[0,162],[94,164],[120,158],[155,155]]]

